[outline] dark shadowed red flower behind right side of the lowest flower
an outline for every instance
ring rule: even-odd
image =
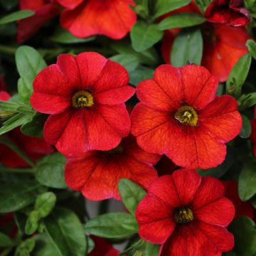
[[[240,216],[247,216],[253,218],[254,208],[250,202],[242,202],[238,196],[238,182],[236,181],[224,181],[225,186],[225,196],[234,204],[235,206],[235,218]]]

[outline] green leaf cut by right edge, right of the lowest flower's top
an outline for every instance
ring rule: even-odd
[[[242,201],[249,200],[256,193],[256,161],[247,161],[238,180],[238,194]]]

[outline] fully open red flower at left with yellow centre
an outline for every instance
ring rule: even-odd
[[[87,150],[110,150],[130,130],[124,102],[134,95],[127,70],[98,53],[58,56],[33,82],[31,105],[50,114],[46,141],[70,156]]]

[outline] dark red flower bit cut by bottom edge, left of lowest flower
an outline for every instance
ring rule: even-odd
[[[91,236],[93,242],[95,242],[95,247],[88,254],[88,256],[118,256],[119,250],[114,249],[105,239],[97,238],[94,235]]]

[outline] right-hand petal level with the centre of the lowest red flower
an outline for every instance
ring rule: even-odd
[[[198,220],[205,223],[226,227],[235,216],[235,208],[228,198],[221,198],[203,208],[194,210],[193,213]]]

